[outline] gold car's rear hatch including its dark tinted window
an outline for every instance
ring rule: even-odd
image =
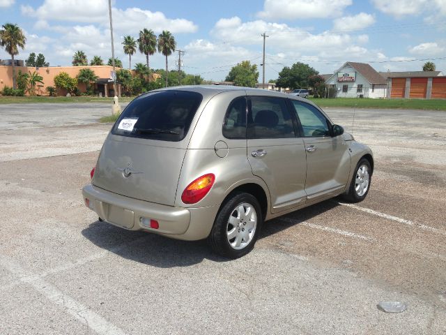
[[[105,140],[93,185],[130,198],[174,205],[187,148],[183,139],[201,100],[196,92],[174,90],[134,99]]]

